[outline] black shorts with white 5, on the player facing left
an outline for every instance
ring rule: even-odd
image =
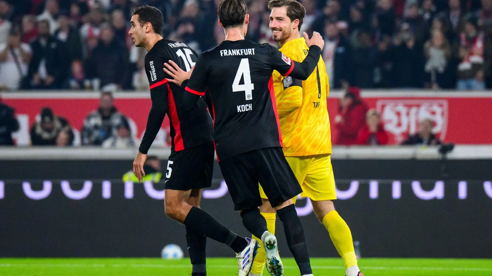
[[[187,191],[212,186],[214,143],[171,153],[167,162],[165,189]]]

